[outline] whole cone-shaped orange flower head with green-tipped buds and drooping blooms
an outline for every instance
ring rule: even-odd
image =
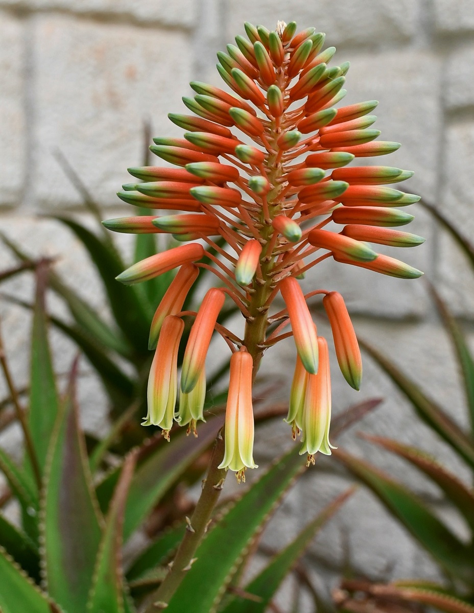
[[[422,273],[371,245],[409,247],[421,237],[397,229],[413,216],[400,207],[418,196],[389,187],[413,174],[389,166],[350,166],[355,158],[391,153],[398,143],[376,140],[370,113],[377,101],[336,105],[344,97],[348,64],[329,67],[334,47],[324,34],[294,22],[276,31],[245,24],[248,38],[218,53],[226,91],[193,82],[184,97],[190,114],[170,113],[183,138],[156,138],[151,151],[172,167],[131,168],[139,182],[123,186],[124,202],[165,215],[110,219],[117,232],[172,234],[182,243],[134,264],[117,278],[146,281],[178,268],[151,324],[155,359],[148,382],[145,424],[174,422],[196,430],[203,419],[205,357],[213,332],[232,351],[222,467],[243,476],[253,460],[252,384],[262,355],[292,335],[296,367],[286,421],[302,454],[331,453],[331,383],[327,343],[307,306],[316,294],[331,324],[338,364],[355,389],[361,355],[342,296],[316,289],[304,295],[298,279],[329,257],[384,275],[413,279]],[[230,93],[232,91],[232,93]],[[181,211],[181,212],[176,212]],[[225,245],[223,240],[225,241]],[[223,246],[224,245],[224,246]],[[208,248],[206,248],[208,247]],[[199,273],[215,273],[217,287],[197,313],[183,312]],[[275,313],[281,294],[286,308]],[[226,300],[245,318],[243,338],[218,323]],[[194,316],[185,349],[178,406],[177,352],[183,317]],[[287,326],[291,326],[291,333]]]

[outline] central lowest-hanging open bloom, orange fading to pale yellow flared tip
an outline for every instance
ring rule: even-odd
[[[236,351],[232,354],[226,406],[225,451],[219,468],[235,471],[239,481],[245,481],[246,468],[258,468],[253,461],[252,370],[253,359],[250,353]]]

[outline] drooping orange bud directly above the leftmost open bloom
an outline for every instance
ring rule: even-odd
[[[186,296],[194,281],[196,281],[197,275],[199,275],[199,268],[194,264],[185,264],[178,270],[151,321],[148,349],[155,349],[161,327],[167,316],[177,315],[181,312]]]

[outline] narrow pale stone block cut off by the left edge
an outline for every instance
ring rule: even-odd
[[[24,39],[21,21],[0,12],[0,205],[18,204],[25,179]]]

